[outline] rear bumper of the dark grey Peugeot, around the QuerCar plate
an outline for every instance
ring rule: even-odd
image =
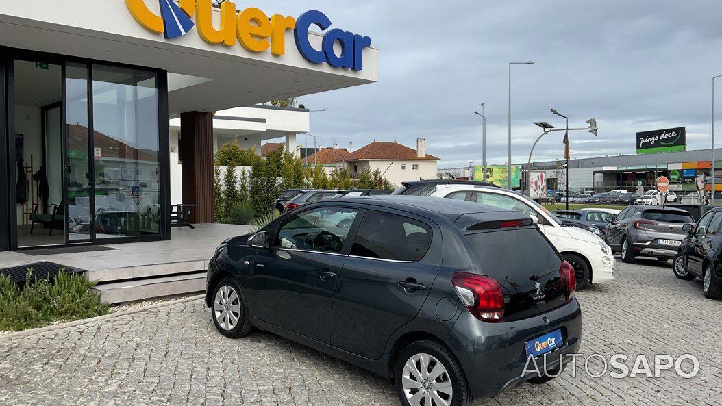
[[[464,369],[474,398],[494,397],[536,376],[531,363],[526,368],[526,342],[557,329],[562,330],[564,346],[547,354],[547,370],[552,370],[560,361],[570,361],[567,355],[579,349],[582,317],[576,299],[551,312],[513,322],[481,322],[464,311],[447,343]],[[538,358],[538,365],[542,360]]]

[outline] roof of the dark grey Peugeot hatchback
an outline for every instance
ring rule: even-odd
[[[329,203],[329,200],[323,201],[324,203]],[[425,196],[375,195],[353,196],[350,198],[344,197],[331,200],[331,203],[339,202],[376,205],[386,208],[395,208],[402,211],[413,211],[414,213],[424,214],[429,218],[441,215],[451,219],[451,221],[456,221],[459,217],[464,216],[465,214],[477,213],[508,212],[514,213],[515,216],[526,217],[524,214],[518,213],[517,211],[485,206],[481,203],[456,199],[429,198]]]

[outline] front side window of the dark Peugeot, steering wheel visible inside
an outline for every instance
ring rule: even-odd
[[[356,218],[355,208],[314,208],[285,221],[274,247],[341,252]]]

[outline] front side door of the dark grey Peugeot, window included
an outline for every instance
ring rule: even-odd
[[[280,224],[271,246],[256,254],[251,286],[258,319],[329,343],[331,304],[358,213],[350,206],[311,208]]]

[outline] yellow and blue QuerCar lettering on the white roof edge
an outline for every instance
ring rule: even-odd
[[[236,12],[232,1],[220,4],[218,27],[212,22],[211,0],[159,0],[160,16],[152,12],[146,0],[126,0],[131,15],[147,30],[163,34],[166,40],[182,37],[196,27],[198,35],[211,44],[232,47],[236,43],[251,52],[271,50],[274,56],[285,53],[285,35],[293,30],[298,52],[311,63],[329,63],[335,68],[363,69],[363,50],[371,46],[371,38],[353,32],[331,28],[326,14],[309,10],[298,19],[274,14],[270,18],[256,7]],[[193,21],[195,19],[195,22]],[[308,30],[315,25],[329,30],[323,35],[321,49],[313,48],[308,40]],[[340,45],[341,53],[334,46]]]

